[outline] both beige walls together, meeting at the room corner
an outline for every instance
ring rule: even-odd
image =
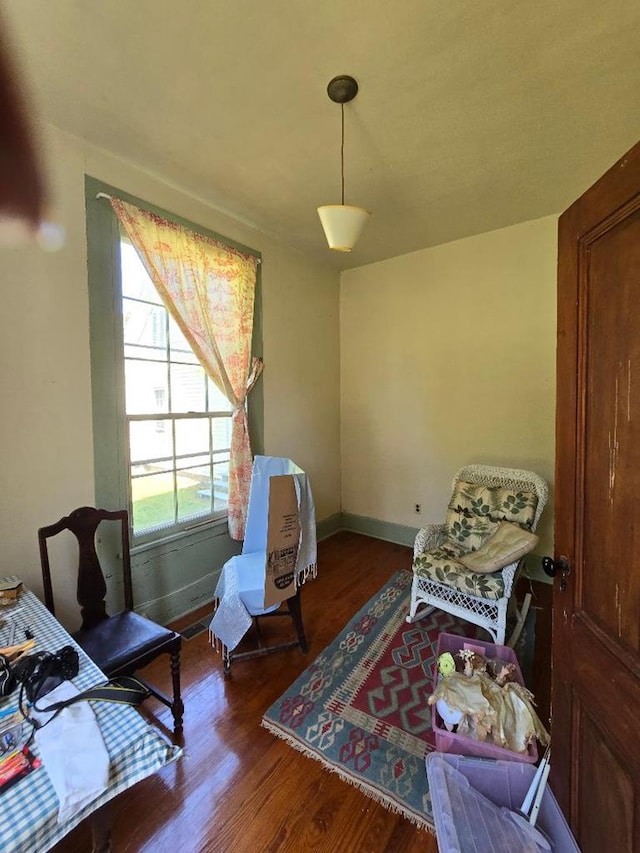
[[[318,520],[340,511],[341,477],[344,511],[415,527],[442,519],[451,476],[470,461],[551,482],[555,217],[351,270],[339,284],[202,200],[44,131],[67,240],[54,254],[3,252],[3,572],[39,590],[37,528],[94,500],[85,172],[262,251],[265,452],[310,473]]]

